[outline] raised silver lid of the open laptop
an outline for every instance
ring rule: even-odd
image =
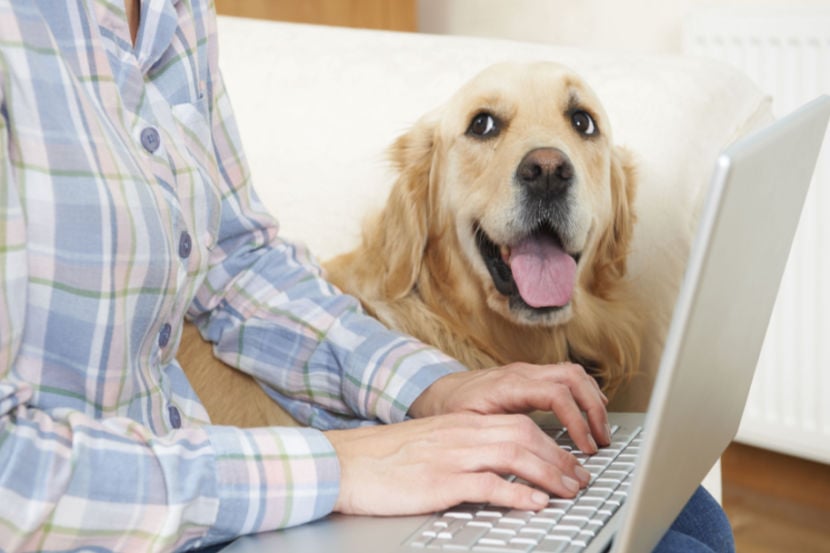
[[[615,551],[651,551],[738,431],[828,117],[822,96],[717,160]]]

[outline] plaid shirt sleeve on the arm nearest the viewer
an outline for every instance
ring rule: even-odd
[[[172,551],[330,513],[339,465],[318,430],[204,426],[159,435],[125,416],[38,406],[36,387],[54,383],[18,376],[26,215],[7,138],[0,117],[0,549]]]

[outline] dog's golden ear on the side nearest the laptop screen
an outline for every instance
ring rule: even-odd
[[[611,154],[611,209],[613,221],[599,239],[595,278],[591,291],[604,297],[613,283],[625,276],[626,258],[634,233],[634,195],[636,169],[634,158],[619,146]]]

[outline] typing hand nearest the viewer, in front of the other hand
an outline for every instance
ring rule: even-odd
[[[525,415],[450,414],[398,424],[333,430],[340,459],[335,511],[403,515],[489,502],[538,510],[548,494],[508,482],[515,474],[573,497],[590,474]]]

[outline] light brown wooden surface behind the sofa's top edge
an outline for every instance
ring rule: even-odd
[[[223,15],[393,31],[417,30],[416,0],[216,0]]]

